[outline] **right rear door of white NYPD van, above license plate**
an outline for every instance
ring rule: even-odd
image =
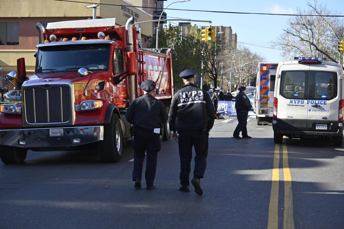
[[[338,66],[310,65],[307,100],[308,131],[337,132],[340,86]]]

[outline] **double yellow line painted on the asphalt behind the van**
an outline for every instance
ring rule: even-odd
[[[280,144],[275,145],[275,157],[272,168],[272,186],[269,204],[268,229],[278,228],[278,192],[279,192],[279,161]],[[294,229],[293,192],[291,190],[291,174],[288,163],[288,149],[283,140],[282,144],[283,174],[284,174],[284,215],[283,228]]]

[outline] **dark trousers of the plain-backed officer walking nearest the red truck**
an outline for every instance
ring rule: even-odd
[[[140,179],[142,177],[142,167],[144,160],[144,153],[147,151],[147,165],[146,165],[146,184],[151,187],[155,178],[155,171],[157,170],[157,157],[161,149],[160,135],[151,131],[143,131],[135,129],[134,141],[132,144],[134,149],[134,169],[132,171],[132,180]]]

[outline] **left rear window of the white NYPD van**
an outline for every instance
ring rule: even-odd
[[[282,71],[281,95],[286,99],[306,99],[308,71]]]

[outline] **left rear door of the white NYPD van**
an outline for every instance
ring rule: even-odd
[[[278,93],[277,128],[306,131],[309,65],[282,65],[279,75],[275,89]]]

